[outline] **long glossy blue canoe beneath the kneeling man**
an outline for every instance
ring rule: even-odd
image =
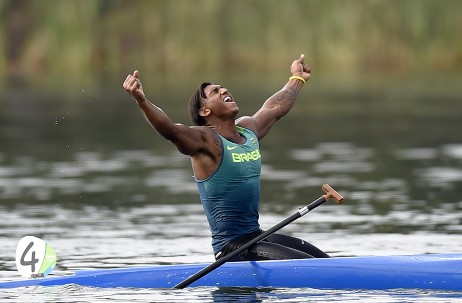
[[[81,286],[171,288],[206,263],[83,270],[0,282],[0,288]],[[462,291],[462,254],[360,256],[228,262],[189,287],[315,288],[339,290],[432,289]]]

